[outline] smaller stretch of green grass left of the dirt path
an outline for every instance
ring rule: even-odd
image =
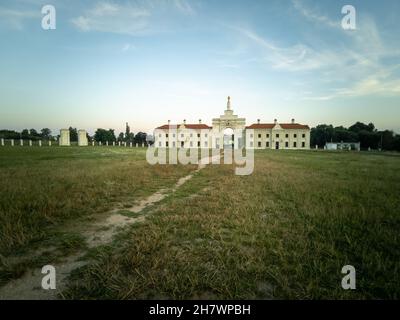
[[[190,170],[150,166],[142,148],[1,147],[0,257],[43,241],[68,247],[77,237],[55,233],[56,227],[119,203],[133,205]]]

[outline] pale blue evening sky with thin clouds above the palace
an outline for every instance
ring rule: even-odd
[[[400,133],[399,15],[398,0],[2,0],[0,128],[211,125],[229,95],[247,125]]]

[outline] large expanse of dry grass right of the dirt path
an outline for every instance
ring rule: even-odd
[[[67,298],[399,298],[400,157],[256,153],[208,166],[91,252]],[[341,288],[353,265],[357,290]],[[78,280],[78,281],[74,281]]]

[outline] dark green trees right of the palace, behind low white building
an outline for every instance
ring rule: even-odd
[[[312,147],[325,146],[327,142],[360,142],[361,149],[400,151],[400,135],[390,130],[379,131],[373,123],[356,122],[349,128],[320,124],[311,129]]]

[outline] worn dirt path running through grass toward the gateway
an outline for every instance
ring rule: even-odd
[[[219,160],[219,156],[210,158],[210,163]],[[198,169],[200,171],[206,166],[204,159],[199,161]],[[143,222],[146,216],[140,213],[165,199],[168,195],[174,193],[179,187],[185,184],[193,177],[193,174],[180,178],[177,183],[169,189],[161,189],[149,197],[142,199],[138,204],[131,208],[116,208],[111,210],[105,217],[95,223],[80,226],[80,233],[85,237],[88,248],[94,248],[105,245],[112,241],[112,238],[128,225]],[[130,212],[135,217],[129,217],[119,212]],[[62,297],[62,291],[68,284],[68,277],[71,272],[80,268],[90,261],[84,260],[86,251],[81,251],[62,259],[61,262],[52,264],[56,269],[57,289],[44,290],[41,287],[42,278],[45,276],[41,269],[33,269],[25,273],[19,279],[11,280],[6,285],[0,287],[0,300],[54,300]]]

